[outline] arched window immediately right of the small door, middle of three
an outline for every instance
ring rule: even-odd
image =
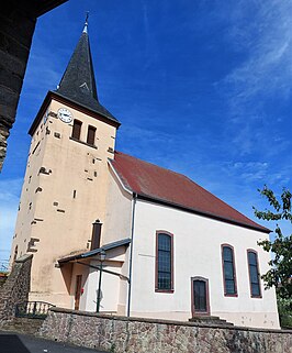
[[[224,295],[226,297],[237,296],[236,271],[234,261],[234,249],[232,245],[223,244],[222,249],[222,267]]]

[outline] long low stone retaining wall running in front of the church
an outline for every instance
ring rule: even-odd
[[[53,308],[40,335],[114,353],[291,353],[292,331],[124,318]]]

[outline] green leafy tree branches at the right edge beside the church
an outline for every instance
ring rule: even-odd
[[[259,192],[268,200],[272,210],[259,211],[254,208],[255,216],[258,219],[267,221],[284,220],[292,223],[292,194],[288,189],[283,189],[280,198],[277,198],[267,186]],[[263,250],[272,253],[272,258],[269,262],[271,268],[262,275],[262,279],[266,288],[276,287],[278,298],[290,301],[292,299],[292,234],[283,235],[279,224],[277,224],[274,232],[274,241],[263,240],[258,242]]]

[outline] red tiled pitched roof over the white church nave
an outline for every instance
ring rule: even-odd
[[[270,232],[182,174],[121,152],[115,152],[111,162],[124,186],[141,197],[266,233]]]

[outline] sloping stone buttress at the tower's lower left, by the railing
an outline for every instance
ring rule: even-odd
[[[29,299],[33,255],[15,261],[12,271],[0,288],[0,326],[14,318],[15,305]]]

